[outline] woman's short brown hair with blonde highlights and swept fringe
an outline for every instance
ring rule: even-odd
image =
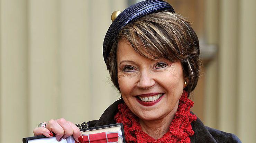
[[[116,57],[121,39],[128,40],[132,48],[146,58],[180,61],[183,73],[189,79],[185,91],[190,95],[198,82],[201,61],[198,37],[188,20],[179,14],[157,12],[139,18],[119,31],[106,61],[111,81],[119,92]]]

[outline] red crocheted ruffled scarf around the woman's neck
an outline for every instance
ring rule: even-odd
[[[191,122],[196,120],[196,116],[190,113],[193,104],[194,102],[188,99],[188,93],[184,91],[169,131],[157,140],[141,130],[138,117],[130,111],[125,103],[118,105],[119,111],[115,120],[117,123],[124,124],[127,143],[190,143],[189,136],[194,134]]]

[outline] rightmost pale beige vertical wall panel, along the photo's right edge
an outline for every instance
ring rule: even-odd
[[[255,143],[256,138],[256,1],[241,0],[238,80],[238,135],[242,142]]]

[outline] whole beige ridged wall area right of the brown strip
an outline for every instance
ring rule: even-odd
[[[205,125],[256,142],[255,0],[207,0],[207,41],[218,53],[205,67]]]

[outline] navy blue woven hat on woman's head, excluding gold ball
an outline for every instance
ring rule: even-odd
[[[103,42],[103,57],[106,63],[112,44],[117,40],[121,28],[125,25],[155,12],[169,11],[175,13],[172,6],[163,0],[145,0],[131,5],[122,11],[110,25]]]

